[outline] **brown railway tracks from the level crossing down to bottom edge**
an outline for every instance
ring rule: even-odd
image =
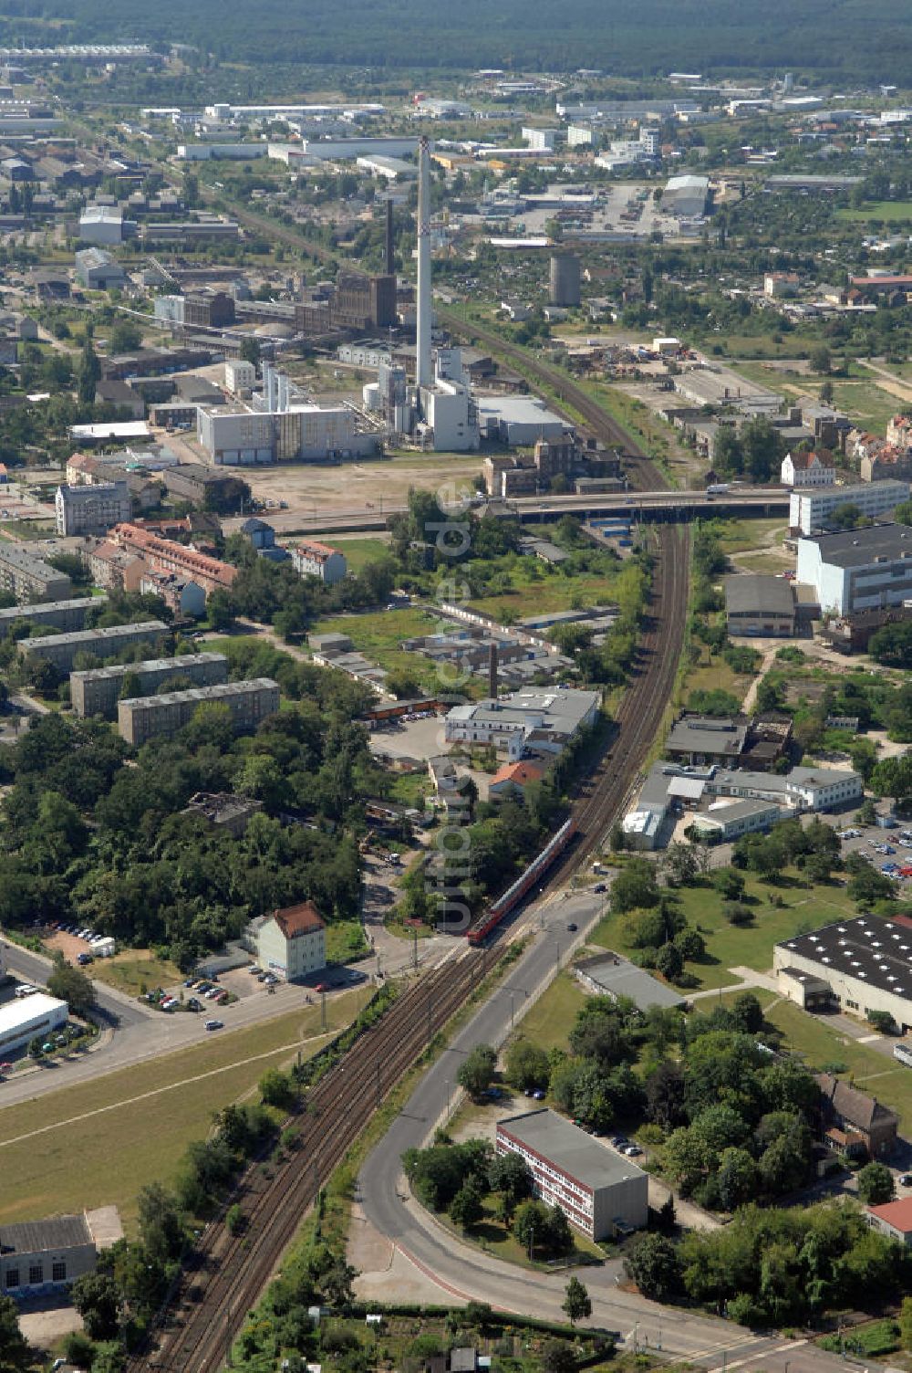
[[[274,1168],[250,1166],[236,1195],[244,1230],[206,1227],[149,1347],[130,1373],[217,1373],[302,1218],[376,1108],[427,1043],[496,965],[505,949],[469,949],[403,991],[306,1094],[288,1126],[299,1141]]]

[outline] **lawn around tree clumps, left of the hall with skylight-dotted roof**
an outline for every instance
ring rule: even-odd
[[[706,942],[706,956],[701,962],[688,962],[687,972],[698,982],[698,989],[730,986],[735,979],[730,968],[746,967],[765,972],[772,968],[772,946],[791,939],[802,930],[813,930],[827,920],[854,913],[854,906],[838,886],[804,887],[786,873],[778,886],[758,881],[746,875],[746,903],[754,910],[750,925],[732,925],[723,914],[723,899],[706,883],[682,887],[675,895],[687,924],[699,930]],[[780,897],[782,908],[771,905],[771,897]],[[629,917],[609,914],[599,921],[590,943],[617,953],[632,953]]]

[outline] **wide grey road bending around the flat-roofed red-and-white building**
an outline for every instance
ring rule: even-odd
[[[437,1226],[409,1196],[402,1174],[402,1153],[421,1146],[447,1111],[455,1074],[466,1053],[477,1043],[499,1045],[521,1001],[551,979],[571,947],[584,939],[598,920],[602,898],[592,892],[555,898],[524,917],[535,931],[529,949],[509,971],[473,1019],[454,1037],[448,1048],[424,1074],[411,1097],[394,1120],[384,1140],[366,1159],[358,1178],[358,1197],[368,1221],[402,1251],[425,1276],[457,1299],[488,1302],[502,1310],[564,1319],[561,1303],[568,1274],[529,1273],[490,1258],[461,1244]],[[579,924],[571,934],[568,923]],[[625,1347],[661,1350],[709,1369],[731,1370],[763,1362],[764,1370],[823,1373],[845,1368],[842,1361],[823,1354],[804,1340],[757,1335],[728,1321],[662,1307],[636,1292],[617,1287],[620,1263],[586,1267],[580,1277],[592,1300],[590,1324],[616,1330]]]

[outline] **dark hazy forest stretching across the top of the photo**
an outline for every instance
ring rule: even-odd
[[[3,41],[48,40],[44,0],[4,7]],[[560,10],[523,0],[466,0],[446,8],[439,0],[357,0],[336,5],[309,0],[289,5],[261,0],[225,5],[176,0],[155,5],[121,0],[59,0],[55,18],[71,21],[74,38],[101,43],[181,41],[202,52],[245,62],[310,62],[343,66],[448,67],[501,66],[566,71],[598,65],[609,73],[650,76],[668,70],[750,71],[795,66],[841,81],[912,84],[905,41],[904,0],[568,0]],[[29,22],[32,21],[32,22]],[[826,41],[821,38],[826,36]]]

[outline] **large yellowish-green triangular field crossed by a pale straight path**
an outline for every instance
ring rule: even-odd
[[[332,997],[329,1028],[348,1024],[370,991]],[[0,1111],[0,1223],[117,1204],[128,1230],[147,1182],[170,1182],[213,1115],[247,1096],[269,1067],[325,1042],[320,1008],[277,1016],[92,1082]],[[64,1081],[64,1068],[60,1072]]]

